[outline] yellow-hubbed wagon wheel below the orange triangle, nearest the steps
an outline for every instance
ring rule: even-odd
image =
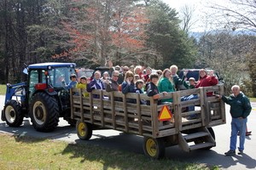
[[[166,147],[163,139],[144,137],[143,150],[146,156],[153,159],[160,159],[165,156]]]

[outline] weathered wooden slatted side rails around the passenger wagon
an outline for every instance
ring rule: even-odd
[[[126,133],[160,138],[177,134],[183,130],[196,127],[209,127],[225,123],[224,104],[219,99],[207,97],[207,92],[224,94],[223,86],[196,88],[177,91],[166,95],[148,97],[146,94],[108,93],[94,90],[89,97],[81,96],[81,90],[71,90],[71,116],[73,119],[90,122],[100,127],[112,128]],[[97,94],[98,98],[93,98]],[[181,101],[183,96],[198,95],[197,99]],[[157,105],[158,99],[172,98],[172,103]],[[141,100],[150,105],[142,105]],[[174,122],[159,121],[163,106],[172,112]],[[195,111],[186,111],[195,106]],[[187,120],[186,116],[197,114],[195,120]]]

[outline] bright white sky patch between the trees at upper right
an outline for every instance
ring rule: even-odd
[[[182,8],[186,5],[189,8],[193,8],[192,22],[195,23],[190,31],[208,31],[211,30],[212,26],[209,15],[211,15],[214,10],[210,6],[214,4],[222,6],[230,6],[228,4],[229,0],[162,0],[167,3],[171,8],[175,8],[177,12],[180,12]],[[211,25],[211,26],[210,26]]]

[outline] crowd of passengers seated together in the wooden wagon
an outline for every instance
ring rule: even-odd
[[[150,67],[144,68],[142,65],[133,66],[113,66],[113,71],[95,71],[92,79],[90,77],[70,77],[71,82],[66,85],[66,88],[82,88],[83,95],[88,96],[94,89],[102,89],[107,92],[119,91],[123,94],[167,94],[179,90],[179,86],[186,89],[214,86],[218,83],[217,77],[213,71],[207,73],[206,70],[199,71],[200,77],[198,82],[195,82],[194,77],[186,77],[187,71],[183,71],[183,77],[177,75],[177,65],[171,65],[165,70],[157,70],[153,72]],[[207,96],[211,96],[207,93]],[[99,95],[94,94],[94,98],[99,98]],[[197,99],[197,95],[183,96],[182,100]],[[161,99],[158,103],[172,102],[172,99]],[[147,102],[141,102],[147,105]],[[189,111],[193,111],[193,106],[189,107]],[[193,118],[193,117],[192,117]]]

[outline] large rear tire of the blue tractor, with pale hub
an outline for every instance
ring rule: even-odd
[[[38,93],[30,105],[32,126],[39,132],[50,132],[58,126],[59,106],[54,96]]]

